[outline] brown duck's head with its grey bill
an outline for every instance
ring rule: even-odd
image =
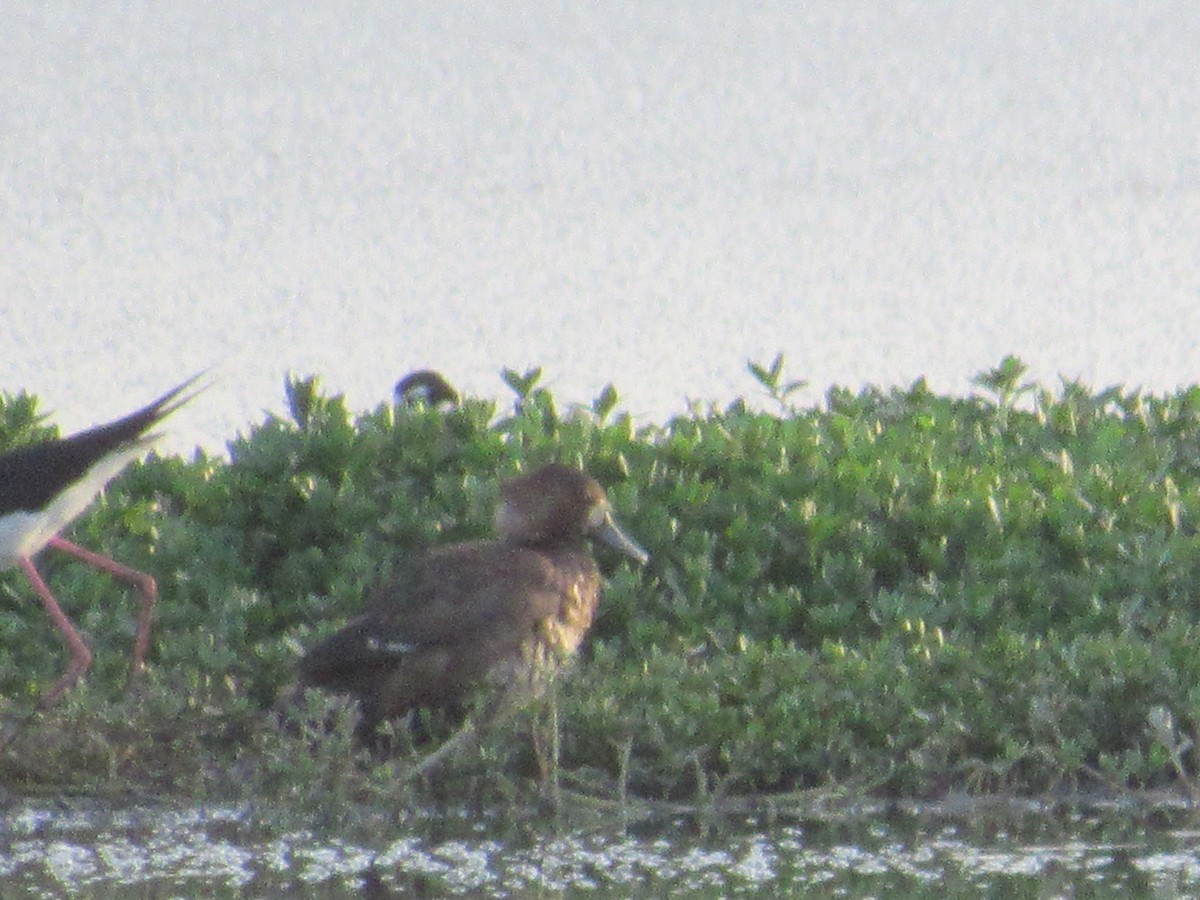
[[[500,485],[496,530],[504,540],[527,545],[569,544],[589,536],[638,563],[650,558],[617,524],[596,480],[559,463]]]

